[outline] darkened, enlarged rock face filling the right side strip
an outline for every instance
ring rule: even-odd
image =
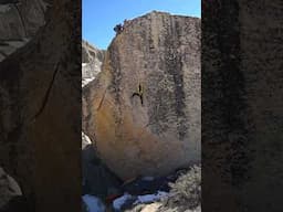
[[[283,211],[282,1],[201,8],[202,210]]]

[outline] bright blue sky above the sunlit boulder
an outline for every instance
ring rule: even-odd
[[[107,49],[115,35],[113,28],[125,19],[140,17],[153,10],[201,15],[201,0],[82,0],[83,39],[99,49]]]

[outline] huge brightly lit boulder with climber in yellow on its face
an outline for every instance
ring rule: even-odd
[[[83,130],[120,178],[200,161],[200,19],[125,21],[83,89]]]

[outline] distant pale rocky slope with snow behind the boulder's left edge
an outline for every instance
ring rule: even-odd
[[[101,72],[105,51],[82,41],[82,86],[93,81]]]

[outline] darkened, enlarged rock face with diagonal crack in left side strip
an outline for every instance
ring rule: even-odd
[[[27,10],[35,7],[32,0],[19,2]],[[0,167],[19,183],[27,211],[76,212],[82,188],[81,1],[48,2],[45,24],[0,63]],[[23,17],[27,23],[36,22],[30,13]]]

